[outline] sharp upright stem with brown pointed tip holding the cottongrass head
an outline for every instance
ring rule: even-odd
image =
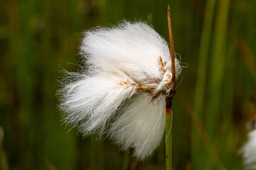
[[[170,49],[172,57],[172,90],[166,97],[166,119],[165,119],[165,165],[166,170],[172,170],[172,97],[176,92],[175,54],[172,37],[172,24],[170,17],[170,5],[168,4],[168,28],[170,38]]]

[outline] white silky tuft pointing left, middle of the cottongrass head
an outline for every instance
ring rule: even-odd
[[[113,75],[84,77],[66,85],[62,90],[61,109],[64,122],[78,127],[82,135],[103,133],[108,120],[125,99],[133,95],[132,87],[120,86],[119,81],[131,78]]]

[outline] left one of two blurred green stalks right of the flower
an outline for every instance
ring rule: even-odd
[[[192,138],[191,138],[191,158],[192,165],[197,170],[203,170],[205,165],[203,164],[206,159],[207,149],[209,147],[202,148],[205,143],[203,138],[204,128],[203,127],[203,107],[205,104],[205,88],[206,88],[206,77],[207,77],[207,62],[212,34],[212,20],[214,17],[215,0],[207,0],[204,14],[204,23],[202,28],[202,35],[200,40],[199,57],[197,64],[197,80],[195,86],[195,98],[194,98],[194,109],[192,113]],[[195,121],[197,120],[197,124]],[[201,128],[197,128],[201,125]],[[208,137],[208,134],[207,138]],[[210,140],[208,140],[210,141]],[[210,143],[208,144],[210,145]],[[210,154],[214,156],[215,154]]]

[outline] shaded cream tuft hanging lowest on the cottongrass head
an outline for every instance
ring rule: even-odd
[[[111,138],[123,150],[134,148],[133,155],[138,159],[152,155],[164,134],[165,97],[152,99],[148,93],[140,94],[121,113],[110,128]]]

